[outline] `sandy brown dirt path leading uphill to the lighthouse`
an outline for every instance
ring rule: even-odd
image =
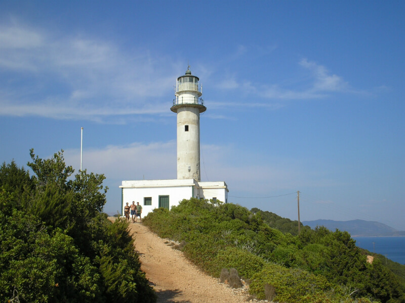
[[[245,289],[234,290],[187,261],[140,223],[130,224],[141,269],[156,290],[157,303],[246,303]]]

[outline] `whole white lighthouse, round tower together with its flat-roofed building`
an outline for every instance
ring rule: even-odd
[[[132,201],[142,205],[143,216],[155,208],[170,209],[190,197],[227,203],[229,190],[225,182],[201,182],[199,114],[207,108],[198,80],[187,69],[176,82],[171,111],[177,113],[177,179],[123,181],[119,186],[123,213],[124,206]]]

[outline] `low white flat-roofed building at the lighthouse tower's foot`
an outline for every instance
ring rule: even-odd
[[[132,180],[122,181],[121,214],[128,203],[139,202],[142,217],[156,208],[170,209],[179,205],[183,199],[213,199],[228,203],[228,186],[225,182],[197,182],[194,179],[171,180]]]

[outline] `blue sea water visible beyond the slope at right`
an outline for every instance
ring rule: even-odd
[[[386,256],[388,259],[405,265],[404,237],[352,237],[358,247]]]

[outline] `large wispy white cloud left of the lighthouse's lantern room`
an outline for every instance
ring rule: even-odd
[[[16,22],[0,25],[0,49],[0,78],[7,79],[0,83],[0,115],[93,121],[155,115],[164,112],[161,98],[176,79],[173,60]]]

